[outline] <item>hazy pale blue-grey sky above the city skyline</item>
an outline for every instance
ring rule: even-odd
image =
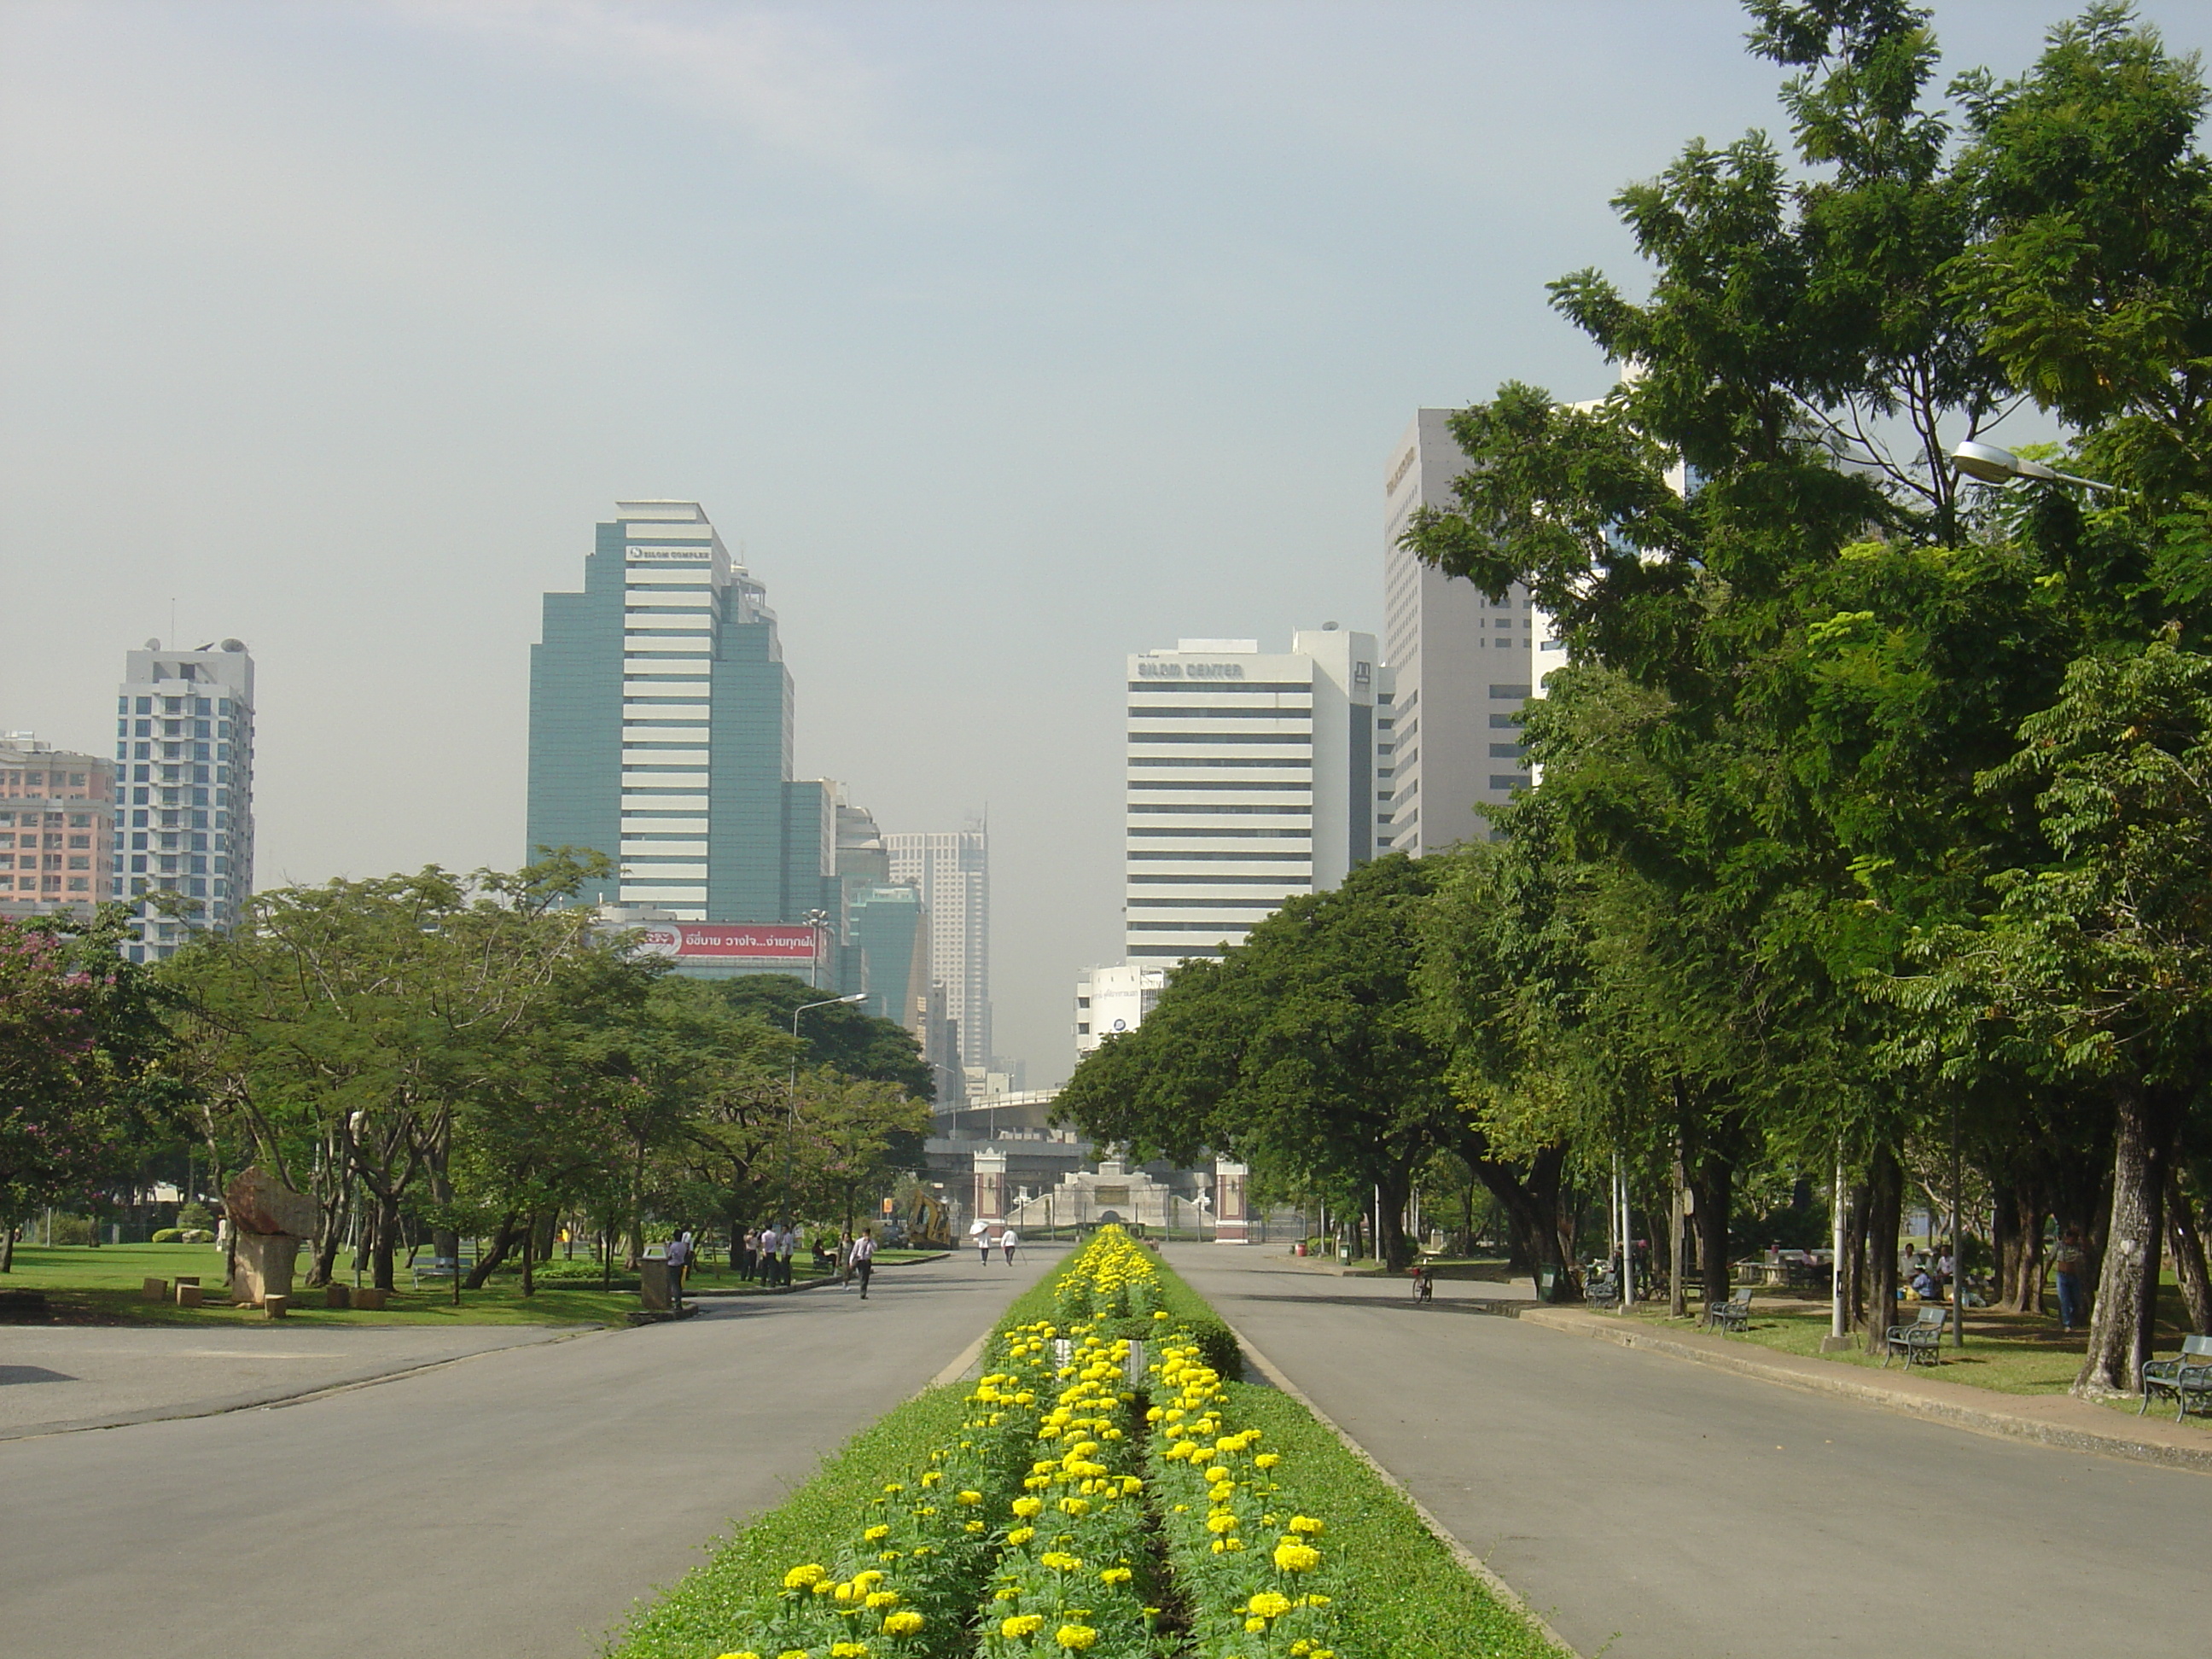
[[[1944,4],[1947,69],[2057,15]],[[1053,1082],[1119,956],[1121,655],[1380,626],[1398,431],[1606,387],[1542,283],[1632,276],[1606,199],[1776,124],[1743,27],[0,0],[0,728],[104,750],[175,599],[259,664],[261,885],[511,867],[540,593],[699,500],[801,774],[989,810],[998,1048]]]

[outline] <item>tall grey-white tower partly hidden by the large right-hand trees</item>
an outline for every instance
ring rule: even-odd
[[[1458,507],[1451,480],[1469,462],[1453,414],[1416,411],[1383,473],[1383,659],[1394,686],[1378,721],[1383,845],[1413,856],[1489,838],[1484,807],[1531,783],[1520,710],[1566,666],[1566,646],[1524,586],[1493,602],[1398,546],[1413,509]]]

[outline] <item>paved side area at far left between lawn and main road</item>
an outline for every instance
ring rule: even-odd
[[[566,1334],[531,1325],[0,1325],[0,1440],[228,1411]]]

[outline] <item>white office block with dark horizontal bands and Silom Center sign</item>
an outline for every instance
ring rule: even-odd
[[[1287,653],[1181,639],[1128,659],[1130,964],[1221,956],[1376,854],[1387,690],[1374,635],[1334,624]]]

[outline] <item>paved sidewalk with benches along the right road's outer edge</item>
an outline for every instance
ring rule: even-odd
[[[2212,1473],[2212,1436],[2174,1422],[2170,1416],[2163,1420],[2154,1416],[2121,1418],[2110,1407],[2077,1400],[2070,1394],[1993,1394],[1964,1383],[1944,1383],[1920,1369],[1869,1371],[1798,1354],[1776,1354],[1752,1343],[1732,1343],[1725,1336],[1652,1329],[1619,1314],[1597,1314],[1582,1307],[1531,1305],[1522,1307],[1517,1316],[1524,1325],[1544,1325],[1619,1347],[1668,1354],[1792,1389],[1838,1394],[1887,1411],[1947,1422],[1953,1429]]]

